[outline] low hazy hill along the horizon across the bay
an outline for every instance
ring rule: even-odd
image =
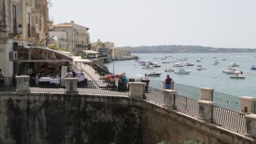
[[[252,53],[256,49],[251,48],[213,48],[197,45],[157,45],[121,47],[121,49],[131,50],[131,53]]]

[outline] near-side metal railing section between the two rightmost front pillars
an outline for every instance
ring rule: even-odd
[[[219,124],[237,132],[246,132],[245,115],[230,109],[212,106],[212,123]]]

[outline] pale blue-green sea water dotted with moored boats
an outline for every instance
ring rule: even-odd
[[[105,64],[105,66],[108,67],[110,72],[114,70],[115,74],[126,72],[126,76],[129,78],[142,78],[149,72],[161,72],[162,74],[158,77],[148,77],[149,80],[165,80],[166,75],[170,75],[175,83],[191,85],[198,88],[214,88],[215,91],[233,96],[256,97],[256,70],[251,70],[252,65],[256,64],[256,53],[134,53],[133,55],[137,55],[144,60],[158,62],[161,67],[151,70],[142,69],[143,66],[140,66],[135,60],[114,61]],[[175,71],[179,70],[179,67],[173,67],[174,63],[162,64],[163,60],[161,58],[165,58],[165,56],[167,56],[166,61],[171,61],[173,57],[187,58],[188,62],[195,65],[182,67],[185,70],[191,71],[187,75],[163,72],[168,67],[174,68]],[[221,59],[223,57],[227,60],[222,61]],[[201,62],[196,62],[197,59],[201,58]],[[212,65],[211,62],[215,60],[219,60],[219,64]],[[184,61],[178,62],[183,63]],[[243,72],[245,79],[232,79],[230,78],[230,74],[222,72],[230,68],[228,66],[231,62],[239,64],[237,70]],[[203,70],[197,70],[197,65],[202,65]]]

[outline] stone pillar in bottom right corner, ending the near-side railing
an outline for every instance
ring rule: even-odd
[[[245,115],[246,134],[256,137],[256,115]]]

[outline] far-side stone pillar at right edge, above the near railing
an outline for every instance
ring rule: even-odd
[[[255,113],[255,101],[256,97],[250,97],[250,96],[241,96],[241,107],[240,112],[243,113]]]

